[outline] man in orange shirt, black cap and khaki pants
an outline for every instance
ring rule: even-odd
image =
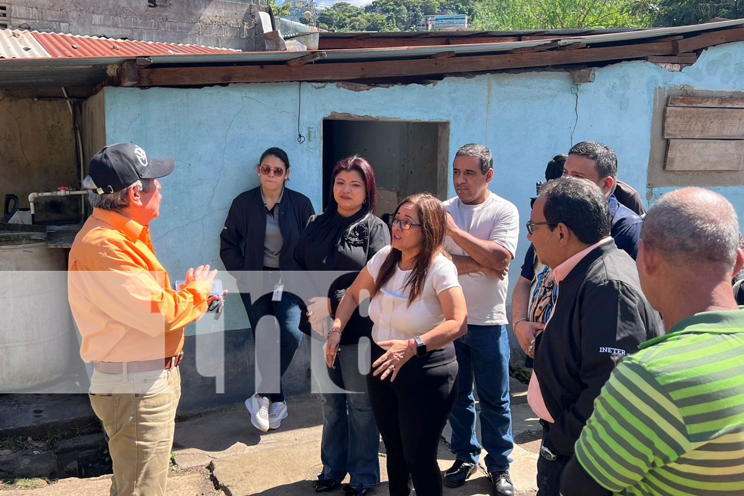
[[[183,329],[216,298],[209,265],[190,268],[176,292],[155,258],[157,178],[173,167],[173,158],[148,158],[131,143],[101,149],[83,181],[93,214],[70,251],[68,295],[80,355],[94,364],[89,396],[109,436],[112,496],[165,494]]]

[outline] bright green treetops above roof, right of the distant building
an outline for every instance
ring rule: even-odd
[[[647,19],[635,0],[483,0],[473,27],[480,30],[641,28]]]

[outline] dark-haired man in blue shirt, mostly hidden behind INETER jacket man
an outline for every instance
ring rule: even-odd
[[[610,236],[620,250],[627,251],[635,260],[643,219],[620,204],[613,193],[618,184],[618,156],[615,150],[597,141],[577,143],[568,150],[563,175],[588,179],[600,187],[609,203]]]

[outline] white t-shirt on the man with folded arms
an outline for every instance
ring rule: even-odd
[[[519,212],[507,200],[489,193],[486,201],[477,205],[466,205],[455,196],[444,202],[458,228],[478,239],[490,239],[503,246],[514,256],[519,239]],[[452,238],[447,236],[445,247],[452,255],[469,256]],[[487,276],[483,272],[461,274],[460,284],[467,303],[467,323],[476,326],[493,326],[507,323],[506,299],[508,277]]]

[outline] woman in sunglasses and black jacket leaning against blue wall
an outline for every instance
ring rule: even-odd
[[[246,399],[246,408],[251,423],[259,431],[268,431],[279,428],[287,416],[281,376],[295,356],[303,335],[300,327],[306,323],[301,318],[304,303],[283,291],[280,271],[295,268],[295,247],[315,211],[307,196],[286,187],[290,170],[283,149],[263,152],[256,173],[260,186],[232,202],[219,235],[219,257],[237,279],[261,376],[256,393]],[[262,320],[266,315],[274,318]]]

